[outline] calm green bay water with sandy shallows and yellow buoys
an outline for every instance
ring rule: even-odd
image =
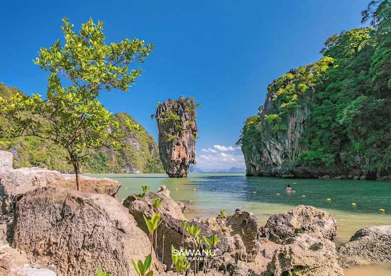
[[[232,214],[239,208],[253,212],[262,226],[274,213],[286,212],[299,204],[311,205],[334,215],[339,224],[336,244],[348,241],[361,228],[391,225],[391,182],[246,177],[243,173],[194,173],[187,178],[169,178],[166,174],[89,176],[120,181],[123,185],[118,191],[119,199],[141,192],[141,184],[150,185],[150,191],[165,185],[174,200],[184,201],[190,207],[191,211],[185,213],[189,219],[217,216],[220,210]],[[284,193],[288,184],[297,192]],[[389,276],[390,272],[391,264],[381,264],[346,269],[345,275]]]

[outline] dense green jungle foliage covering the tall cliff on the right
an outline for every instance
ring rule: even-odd
[[[262,139],[262,120],[271,131],[283,124],[312,97],[310,122],[300,139],[308,151],[297,159],[305,165],[348,169],[355,162],[367,170],[391,174],[391,0],[374,0],[362,12],[370,26],[329,37],[323,58],[290,70],[268,86],[279,113],[244,123],[238,144],[251,149]],[[311,93],[310,93],[311,92]]]

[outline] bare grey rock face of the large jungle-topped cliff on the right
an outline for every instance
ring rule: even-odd
[[[265,104],[259,110],[261,120],[253,143],[242,146],[246,173],[250,176],[293,177],[295,166],[298,166],[296,157],[308,150],[308,146],[300,138],[311,115],[314,91],[311,89],[305,97],[299,96],[300,106],[285,114],[279,121],[278,118],[273,120],[273,117],[265,120],[268,116],[281,113],[281,102],[276,101],[277,94],[271,89],[273,85],[274,83],[269,85]]]

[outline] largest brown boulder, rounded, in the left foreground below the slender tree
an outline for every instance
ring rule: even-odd
[[[41,187],[17,202],[14,225],[12,246],[64,276],[95,275],[99,266],[111,275],[137,275],[131,258],[150,253],[147,235],[108,195]]]

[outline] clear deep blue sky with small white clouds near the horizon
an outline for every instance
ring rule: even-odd
[[[181,95],[202,108],[197,167],[245,168],[235,148],[247,117],[264,104],[266,87],[281,74],[318,61],[323,42],[361,27],[369,0],[0,0],[0,82],[26,94],[46,93],[46,74],[34,65],[40,47],[63,40],[61,19],[79,30],[104,21],[106,43],[155,42],[142,77],[129,92],[103,93],[112,112],[128,112],[157,141],[150,114]]]

